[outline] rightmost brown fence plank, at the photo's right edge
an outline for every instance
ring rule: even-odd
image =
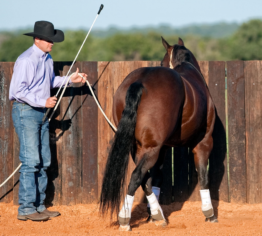
[[[262,61],[245,61],[247,203],[262,202]]]

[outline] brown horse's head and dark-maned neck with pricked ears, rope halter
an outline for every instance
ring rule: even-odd
[[[162,43],[166,49],[166,54],[161,62],[161,66],[174,69],[183,62],[190,62],[200,71],[195,56],[185,47],[181,38],[178,38],[178,43],[173,46],[170,46],[162,36],[161,38]]]

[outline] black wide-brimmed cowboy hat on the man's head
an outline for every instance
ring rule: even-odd
[[[52,41],[52,42],[62,42],[64,41],[64,32],[62,30],[55,30],[54,25],[48,21],[36,21],[34,26],[34,32],[27,33],[24,35],[37,37],[39,39]]]

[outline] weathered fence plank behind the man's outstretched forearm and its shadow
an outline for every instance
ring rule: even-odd
[[[76,68],[81,72],[81,62],[76,62],[71,73]],[[69,70],[64,66],[63,75]],[[70,85],[65,90],[62,106],[62,204],[74,205],[82,202],[82,89],[81,84]],[[69,125],[71,123],[71,126]]]

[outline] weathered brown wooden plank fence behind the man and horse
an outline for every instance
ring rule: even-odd
[[[54,62],[56,75],[65,75],[71,62]],[[126,75],[160,62],[76,62],[88,80],[108,118],[113,95]],[[214,147],[209,158],[211,199],[236,203],[262,202],[261,159],[261,61],[200,61],[201,72],[216,107]],[[19,165],[19,141],[12,124],[8,99],[13,62],[0,62],[0,183]],[[225,68],[227,69],[228,146],[226,147]],[[56,94],[57,90],[51,91]],[[46,204],[97,203],[102,173],[114,132],[98,110],[86,85],[66,89],[50,121],[51,167],[48,169]],[[171,149],[170,149],[171,150]],[[193,154],[187,148],[167,153],[165,181],[160,203],[200,201]],[[229,169],[228,169],[229,166]],[[131,160],[128,179],[134,169]],[[229,171],[229,181],[228,181]],[[0,188],[0,201],[18,204],[19,173]],[[135,201],[145,202],[141,187]]]

